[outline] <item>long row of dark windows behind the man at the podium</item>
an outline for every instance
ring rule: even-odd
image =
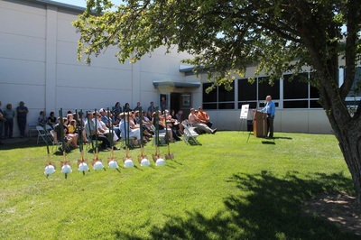
[[[361,68],[358,71],[361,76]],[[272,86],[269,84],[269,77],[255,78],[254,83],[249,83],[247,78],[239,78],[232,83],[232,88],[236,88],[236,90],[227,91],[224,86],[219,86],[209,94],[206,94],[205,90],[212,83],[204,83],[203,107],[206,109],[242,109],[243,105],[249,105],[250,108],[259,108],[264,107],[265,97],[270,95],[276,107],[321,108],[319,89],[310,86],[314,76],[314,72],[305,72],[297,76],[285,74],[282,81],[275,80]]]

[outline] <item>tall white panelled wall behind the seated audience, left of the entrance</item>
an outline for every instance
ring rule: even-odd
[[[112,107],[116,102],[148,107],[159,103],[153,80],[184,81],[180,60],[186,53],[159,48],[142,60],[120,64],[116,47],[109,47],[90,66],[77,60],[79,34],[71,25],[78,7],[51,1],[0,1],[0,100],[13,108],[29,108],[28,123],[36,124],[41,110],[59,115],[75,109]],[[15,123],[14,134],[18,133]]]

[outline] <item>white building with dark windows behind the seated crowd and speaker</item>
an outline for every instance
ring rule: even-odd
[[[151,101],[159,105],[165,96],[169,108],[183,109],[186,115],[190,107],[204,106],[220,130],[245,130],[246,123],[239,118],[241,106],[259,108],[265,95],[271,94],[277,105],[276,132],[331,133],[317,96],[307,84],[280,81],[267,87],[237,79],[233,91],[219,88],[206,95],[206,75],[197,78],[180,64],[191,56],[176,50],[165,54],[163,48],[134,64],[120,64],[116,47],[93,58],[90,66],[79,62],[79,34],[71,22],[82,10],[46,0],[0,1],[0,100],[3,107],[11,103],[14,108],[24,101],[30,125],[36,124],[44,109],[47,115],[51,111],[59,115],[60,108],[65,114],[75,109],[111,108],[116,102],[134,107],[138,101],[147,108]],[[252,76],[252,69],[246,77]]]

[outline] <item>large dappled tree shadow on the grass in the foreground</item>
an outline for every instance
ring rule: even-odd
[[[297,172],[279,177],[272,172],[237,173],[227,182],[241,194],[224,199],[225,209],[213,217],[202,212],[167,216],[164,226],[153,226],[151,239],[360,239],[326,219],[304,213],[303,203],[319,192],[353,192],[342,173],[314,173],[301,179]],[[141,239],[116,232],[122,239]]]

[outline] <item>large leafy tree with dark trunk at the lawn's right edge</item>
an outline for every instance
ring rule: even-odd
[[[227,88],[249,63],[271,83],[309,66],[361,201],[361,107],[350,115],[346,105],[361,55],[360,0],[88,0],[74,25],[79,58],[85,54],[88,62],[109,45],[118,47],[120,62],[176,45],[194,56],[186,61],[196,72],[207,69]],[[339,68],[346,69],[341,86]]]

